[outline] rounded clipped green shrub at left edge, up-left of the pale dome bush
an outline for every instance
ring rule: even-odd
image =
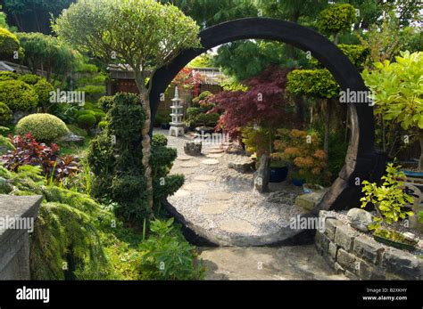
[[[21,80],[0,82],[0,102],[4,102],[11,110],[32,110],[37,107],[37,92]]]

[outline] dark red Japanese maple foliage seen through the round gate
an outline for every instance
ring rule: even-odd
[[[257,77],[245,82],[248,87],[243,91],[223,91],[211,101],[216,103],[213,111],[224,110],[218,127],[228,134],[236,135],[238,128],[257,124],[264,127],[287,126],[295,121],[291,107],[285,96],[287,69],[271,67]]]

